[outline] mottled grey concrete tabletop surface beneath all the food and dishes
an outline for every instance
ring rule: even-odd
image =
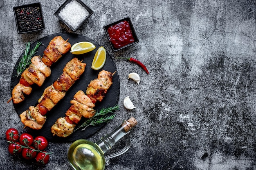
[[[76,33],[106,48],[121,85],[116,118],[88,139],[97,141],[130,116],[139,122],[128,134],[130,150],[112,159],[107,170],[256,169],[255,1],[82,1],[94,14]],[[31,2],[38,1],[0,1],[0,169],[72,169],[67,161],[70,142],[51,142],[47,150],[54,154],[45,166],[7,151],[4,132],[11,127],[26,132],[13,104],[6,103],[13,66],[25,43],[72,33],[54,16],[64,0],[45,0],[40,2],[46,29],[18,35],[12,8]],[[113,52],[103,26],[126,16],[139,43]],[[150,74],[115,57],[137,58]],[[141,76],[139,85],[128,80],[130,72]],[[123,107],[126,96],[136,109]]]

